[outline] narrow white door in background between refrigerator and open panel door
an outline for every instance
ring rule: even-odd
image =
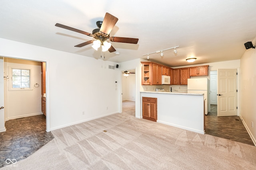
[[[217,104],[217,71],[210,71],[210,104]]]

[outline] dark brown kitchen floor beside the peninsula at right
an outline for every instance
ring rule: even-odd
[[[205,133],[254,146],[240,117],[218,117],[217,105],[211,105],[211,112],[209,112],[208,115],[205,115]]]

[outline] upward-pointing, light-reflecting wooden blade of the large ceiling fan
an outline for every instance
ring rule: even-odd
[[[110,31],[113,29],[113,27],[116,25],[116,22],[118,21],[118,18],[115,16],[112,16],[109,13],[106,13],[102,25],[100,27],[100,33],[103,35],[108,35]]]

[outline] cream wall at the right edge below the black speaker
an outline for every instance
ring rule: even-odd
[[[255,44],[255,39],[252,41]],[[240,115],[256,145],[256,49],[248,49],[241,58]],[[252,127],[252,122],[254,127]]]

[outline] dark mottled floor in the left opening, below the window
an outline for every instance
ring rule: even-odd
[[[46,132],[46,117],[36,115],[11,119],[5,123],[6,132],[0,133],[0,168],[6,159],[22,160],[54,139]]]

